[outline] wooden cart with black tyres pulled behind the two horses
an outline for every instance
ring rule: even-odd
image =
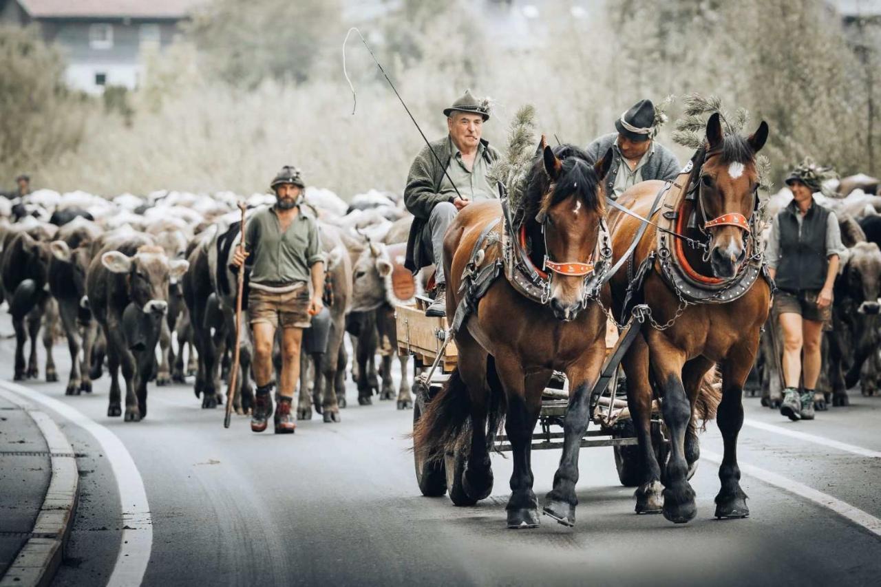
[[[413,423],[415,425],[422,415],[425,406],[449,378],[450,371],[455,368],[458,356],[454,340],[447,340],[448,324],[446,318],[425,316],[431,300],[417,297],[414,305],[398,305],[396,307],[397,351],[399,354],[412,354],[416,358],[417,367],[426,371],[415,377],[413,383],[414,408]],[[636,487],[642,478],[640,458],[636,446],[633,421],[627,409],[626,391],[623,382],[618,381],[618,363],[626,352],[626,346],[637,335],[642,316],[640,308],[634,310],[633,318],[626,328],[618,333],[613,325],[606,337],[606,360],[603,364],[603,377],[591,394],[590,420],[598,428],[588,430],[581,439],[582,447],[611,446],[615,454],[618,479],[626,487]],[[557,382],[559,384],[554,384]],[[562,428],[566,417],[568,390],[565,377],[554,377],[551,387],[544,390],[542,410],[538,425],[532,437],[533,450],[560,449],[563,446]],[[657,453],[658,462],[665,463],[669,453],[669,442],[664,435],[663,422],[657,413],[652,418],[652,441]],[[416,449],[417,447],[414,447]],[[495,449],[511,450],[507,436],[496,437]],[[468,503],[467,496],[461,491],[456,474],[464,465],[463,455],[447,455],[443,462],[426,464],[422,462],[418,450],[413,451],[415,457],[416,477],[419,489],[426,495],[442,495],[449,490],[453,502],[461,505]]]

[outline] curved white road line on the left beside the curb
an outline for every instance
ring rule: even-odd
[[[107,580],[108,587],[130,587],[144,581],[150,551],[153,545],[153,523],[147,492],[141,473],[122,441],[107,427],[87,417],[83,412],[41,392],[23,387],[17,383],[0,381],[0,387],[9,390],[32,402],[45,405],[73,424],[83,428],[95,437],[101,451],[113,469],[116,486],[122,507],[122,543],[113,573]]]

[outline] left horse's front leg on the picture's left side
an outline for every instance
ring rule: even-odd
[[[536,427],[538,413],[541,411],[541,392],[544,383],[538,387],[535,378],[529,389],[519,357],[512,353],[496,356],[496,371],[507,398],[507,420],[505,431],[511,450],[514,453],[514,472],[511,473],[511,498],[507,502],[508,528],[536,528],[538,520],[538,501],[532,491],[534,477],[530,465],[532,451],[532,431]],[[535,391],[537,390],[537,393]]]

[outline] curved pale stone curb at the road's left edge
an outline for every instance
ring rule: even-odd
[[[21,547],[0,587],[48,585],[55,577],[70,539],[73,516],[77,511],[79,471],[77,459],[67,436],[46,412],[16,393],[0,389],[0,396],[18,405],[40,428],[48,445],[52,477],[40,513],[33,524],[31,537]]]

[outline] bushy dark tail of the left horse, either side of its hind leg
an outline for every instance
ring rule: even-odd
[[[492,357],[487,361],[486,380],[490,388],[487,449],[492,450],[496,434],[504,426],[505,393]],[[453,369],[441,391],[426,405],[425,412],[413,427],[413,447],[427,460],[438,460],[446,453],[467,450],[471,438],[471,400],[468,388]]]

